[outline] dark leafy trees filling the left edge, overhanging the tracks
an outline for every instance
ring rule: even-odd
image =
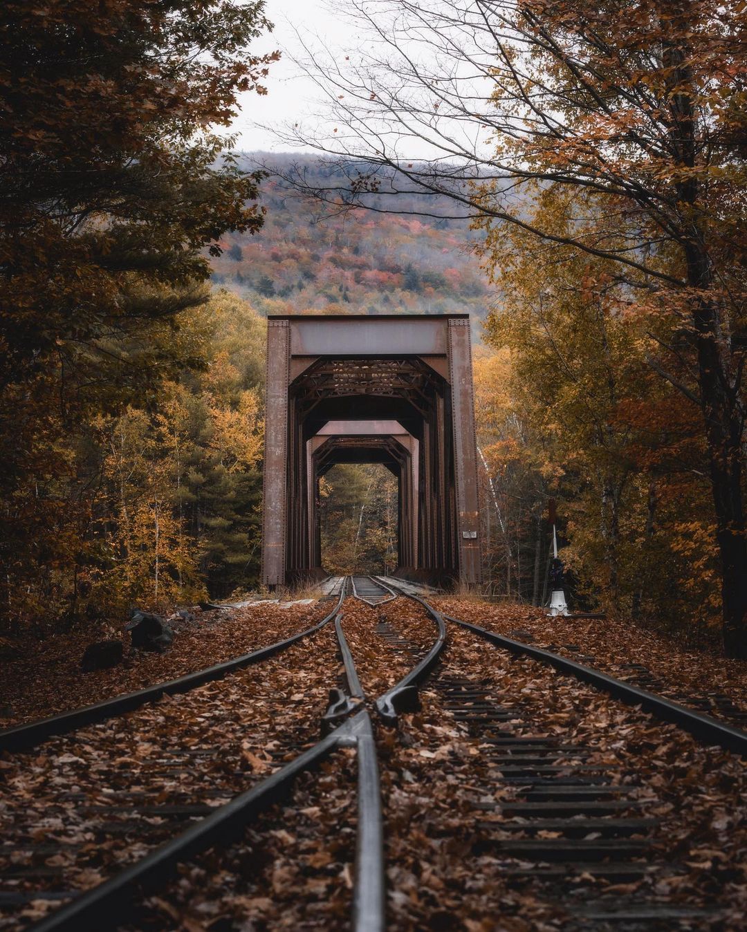
[[[158,518],[147,534],[173,552],[168,574],[191,572],[168,477],[153,469],[153,418],[164,385],[210,361],[191,316],[209,294],[208,253],[227,230],[262,225],[259,174],[210,128],[228,125],[238,93],[263,92],[276,56],[246,47],[268,27],[261,2],[0,7],[0,611],[11,620],[76,616],[88,577],[123,554],[122,579],[140,580],[135,555],[152,544],[141,504]],[[122,456],[142,497],[120,496],[110,513]],[[110,526],[122,530],[114,550]]]

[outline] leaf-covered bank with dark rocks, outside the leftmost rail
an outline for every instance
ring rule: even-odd
[[[82,632],[22,641],[3,661],[0,728],[87,706],[219,664],[290,637],[321,621],[332,603],[260,602],[241,609],[195,613],[194,621],[174,624],[174,641],[165,653],[128,655],[130,636],[112,629],[101,637],[125,643],[125,662],[108,670],[81,673],[80,661],[91,637]]]

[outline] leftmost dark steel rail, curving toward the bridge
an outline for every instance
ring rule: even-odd
[[[60,712],[57,715],[49,716],[47,719],[39,719],[25,725],[8,728],[0,732],[0,753],[35,747],[55,735],[69,733],[77,728],[82,728],[84,725],[115,718],[125,712],[131,712],[133,709],[145,706],[146,703],[156,702],[164,695],[189,692],[215,679],[222,679],[229,673],[240,670],[244,666],[267,660],[273,654],[284,651],[292,644],[295,644],[302,637],[308,637],[323,628],[338,613],[344,595],[345,585],[343,583],[340,587],[337,605],[328,615],[325,615],[321,622],[312,625],[311,628],[307,628],[305,631],[298,632],[292,637],[277,641],[275,644],[270,644],[251,653],[244,653],[240,657],[234,657],[233,660],[208,666],[203,670],[196,670],[194,673],[187,673],[182,677],[156,683],[153,686],[146,686],[142,690],[126,692],[123,695],[115,696],[112,699],[104,699],[102,702],[94,703],[91,706],[83,706],[69,712]]]

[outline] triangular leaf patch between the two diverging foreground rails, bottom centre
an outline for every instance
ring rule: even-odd
[[[355,753],[302,774],[228,849],[183,865],[121,932],[348,929],[355,857]]]

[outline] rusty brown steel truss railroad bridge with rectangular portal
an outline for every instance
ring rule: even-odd
[[[319,479],[351,462],[397,477],[396,575],[480,581],[467,314],[268,318],[264,583],[325,575]]]

